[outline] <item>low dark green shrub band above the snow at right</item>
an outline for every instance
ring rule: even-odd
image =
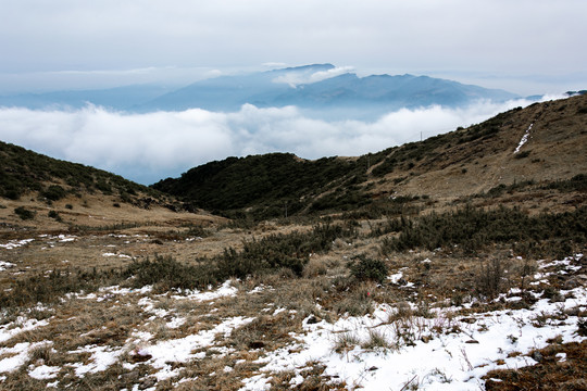
[[[389,231],[399,235],[384,240],[384,253],[410,249],[459,245],[474,253],[494,243],[529,243],[532,255],[565,256],[587,242],[587,206],[560,214],[528,216],[519,209],[491,211],[466,206],[455,212],[432,213],[396,219]]]

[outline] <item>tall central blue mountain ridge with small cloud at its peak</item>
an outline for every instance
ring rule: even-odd
[[[236,111],[242,104],[250,103],[260,108],[295,105],[313,113],[330,108],[364,109],[380,115],[401,108],[414,109],[433,104],[453,108],[478,99],[505,101],[520,98],[503,90],[410,74],[359,77],[354,73],[344,72],[315,80],[307,75],[308,70],[315,70],[313,66],[315,65],[197,81],[158,97],[137,106],[137,110],[178,111],[200,108]],[[319,67],[335,70],[332,64]],[[297,84],[292,86],[295,81]]]

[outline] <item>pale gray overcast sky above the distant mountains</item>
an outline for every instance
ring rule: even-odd
[[[522,94],[587,88],[585,0],[0,0],[0,93],[329,62]]]

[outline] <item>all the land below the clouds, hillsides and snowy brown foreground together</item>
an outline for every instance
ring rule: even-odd
[[[585,390],[586,108],[230,157],[182,201],[2,144],[0,389]]]

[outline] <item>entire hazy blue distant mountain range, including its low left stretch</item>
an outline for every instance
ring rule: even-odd
[[[314,64],[236,76],[221,76],[170,90],[128,86],[103,90],[0,96],[1,106],[82,108],[88,103],[128,112],[184,111],[200,108],[234,112],[295,105],[316,115],[370,117],[401,108],[434,104],[462,106],[479,99],[504,101],[519,96],[497,89],[414,75],[359,77],[332,64]],[[320,114],[322,113],[322,114]],[[334,113],[334,114],[333,114]]]

